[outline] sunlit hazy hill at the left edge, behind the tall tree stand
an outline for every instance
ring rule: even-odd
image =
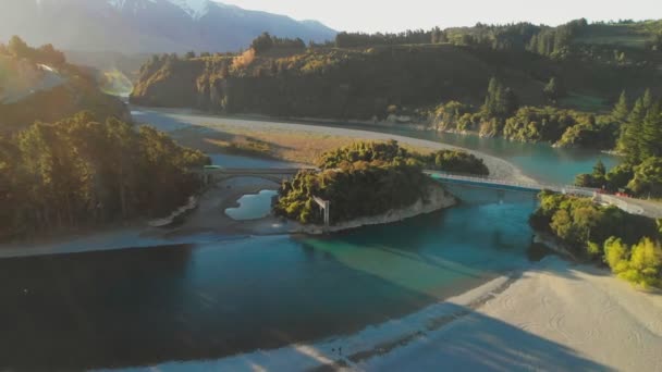
[[[131,120],[123,102],[100,90],[98,74],[69,63],[52,45],[33,48],[20,37],[0,44],[0,134],[84,110]]]

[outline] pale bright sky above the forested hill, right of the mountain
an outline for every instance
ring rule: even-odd
[[[586,17],[662,18],[662,0],[220,0],[252,10],[317,20],[338,30],[397,32],[476,22],[556,25]]]

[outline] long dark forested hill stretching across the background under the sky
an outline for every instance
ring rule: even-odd
[[[155,55],[132,101],[228,113],[385,117],[450,100],[479,106],[501,79],[520,104],[605,110],[622,90],[662,87],[662,23],[477,25],[399,35],[338,35],[308,45],[269,35],[243,54]],[[654,94],[655,91],[653,91]]]

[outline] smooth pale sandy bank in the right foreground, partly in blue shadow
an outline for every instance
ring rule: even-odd
[[[662,296],[549,257],[353,335],[157,368],[659,371],[661,346]]]

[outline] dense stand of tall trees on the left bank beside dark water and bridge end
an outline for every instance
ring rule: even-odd
[[[0,136],[0,237],[159,216],[198,189],[208,164],[163,133],[88,112]]]

